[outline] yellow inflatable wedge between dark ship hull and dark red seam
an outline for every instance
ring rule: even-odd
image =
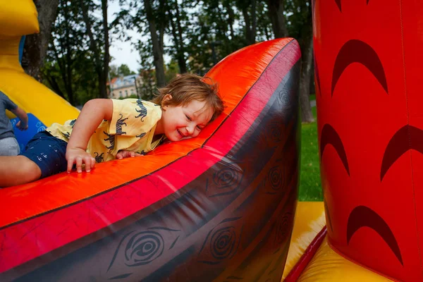
[[[282,280],[290,273],[312,243],[317,233],[326,225],[323,202],[298,202],[295,212],[293,235],[283,269]]]

